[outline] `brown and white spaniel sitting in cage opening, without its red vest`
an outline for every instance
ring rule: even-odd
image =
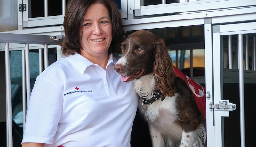
[[[134,83],[153,147],[206,146],[205,117],[184,80],[175,75],[164,39],[140,30],[121,48],[115,70],[123,82]]]

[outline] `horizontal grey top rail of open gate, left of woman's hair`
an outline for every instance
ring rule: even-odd
[[[57,45],[57,41],[51,40],[51,36],[13,33],[0,33],[0,43]]]

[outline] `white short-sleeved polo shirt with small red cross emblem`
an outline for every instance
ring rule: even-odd
[[[110,56],[106,71],[80,54],[40,74],[31,93],[22,143],[45,147],[129,147],[138,95]]]

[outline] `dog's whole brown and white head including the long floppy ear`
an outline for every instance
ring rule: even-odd
[[[121,81],[129,82],[141,76],[154,73],[162,93],[173,95],[175,73],[169,49],[164,39],[146,30],[129,35],[122,43],[122,57],[117,61],[115,70]],[[160,90],[161,90],[160,89]],[[170,91],[171,92],[164,92]]]

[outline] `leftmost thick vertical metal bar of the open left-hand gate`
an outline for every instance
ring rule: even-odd
[[[9,43],[5,43],[5,85],[6,85],[6,143],[12,147],[12,97],[10,75]]]

